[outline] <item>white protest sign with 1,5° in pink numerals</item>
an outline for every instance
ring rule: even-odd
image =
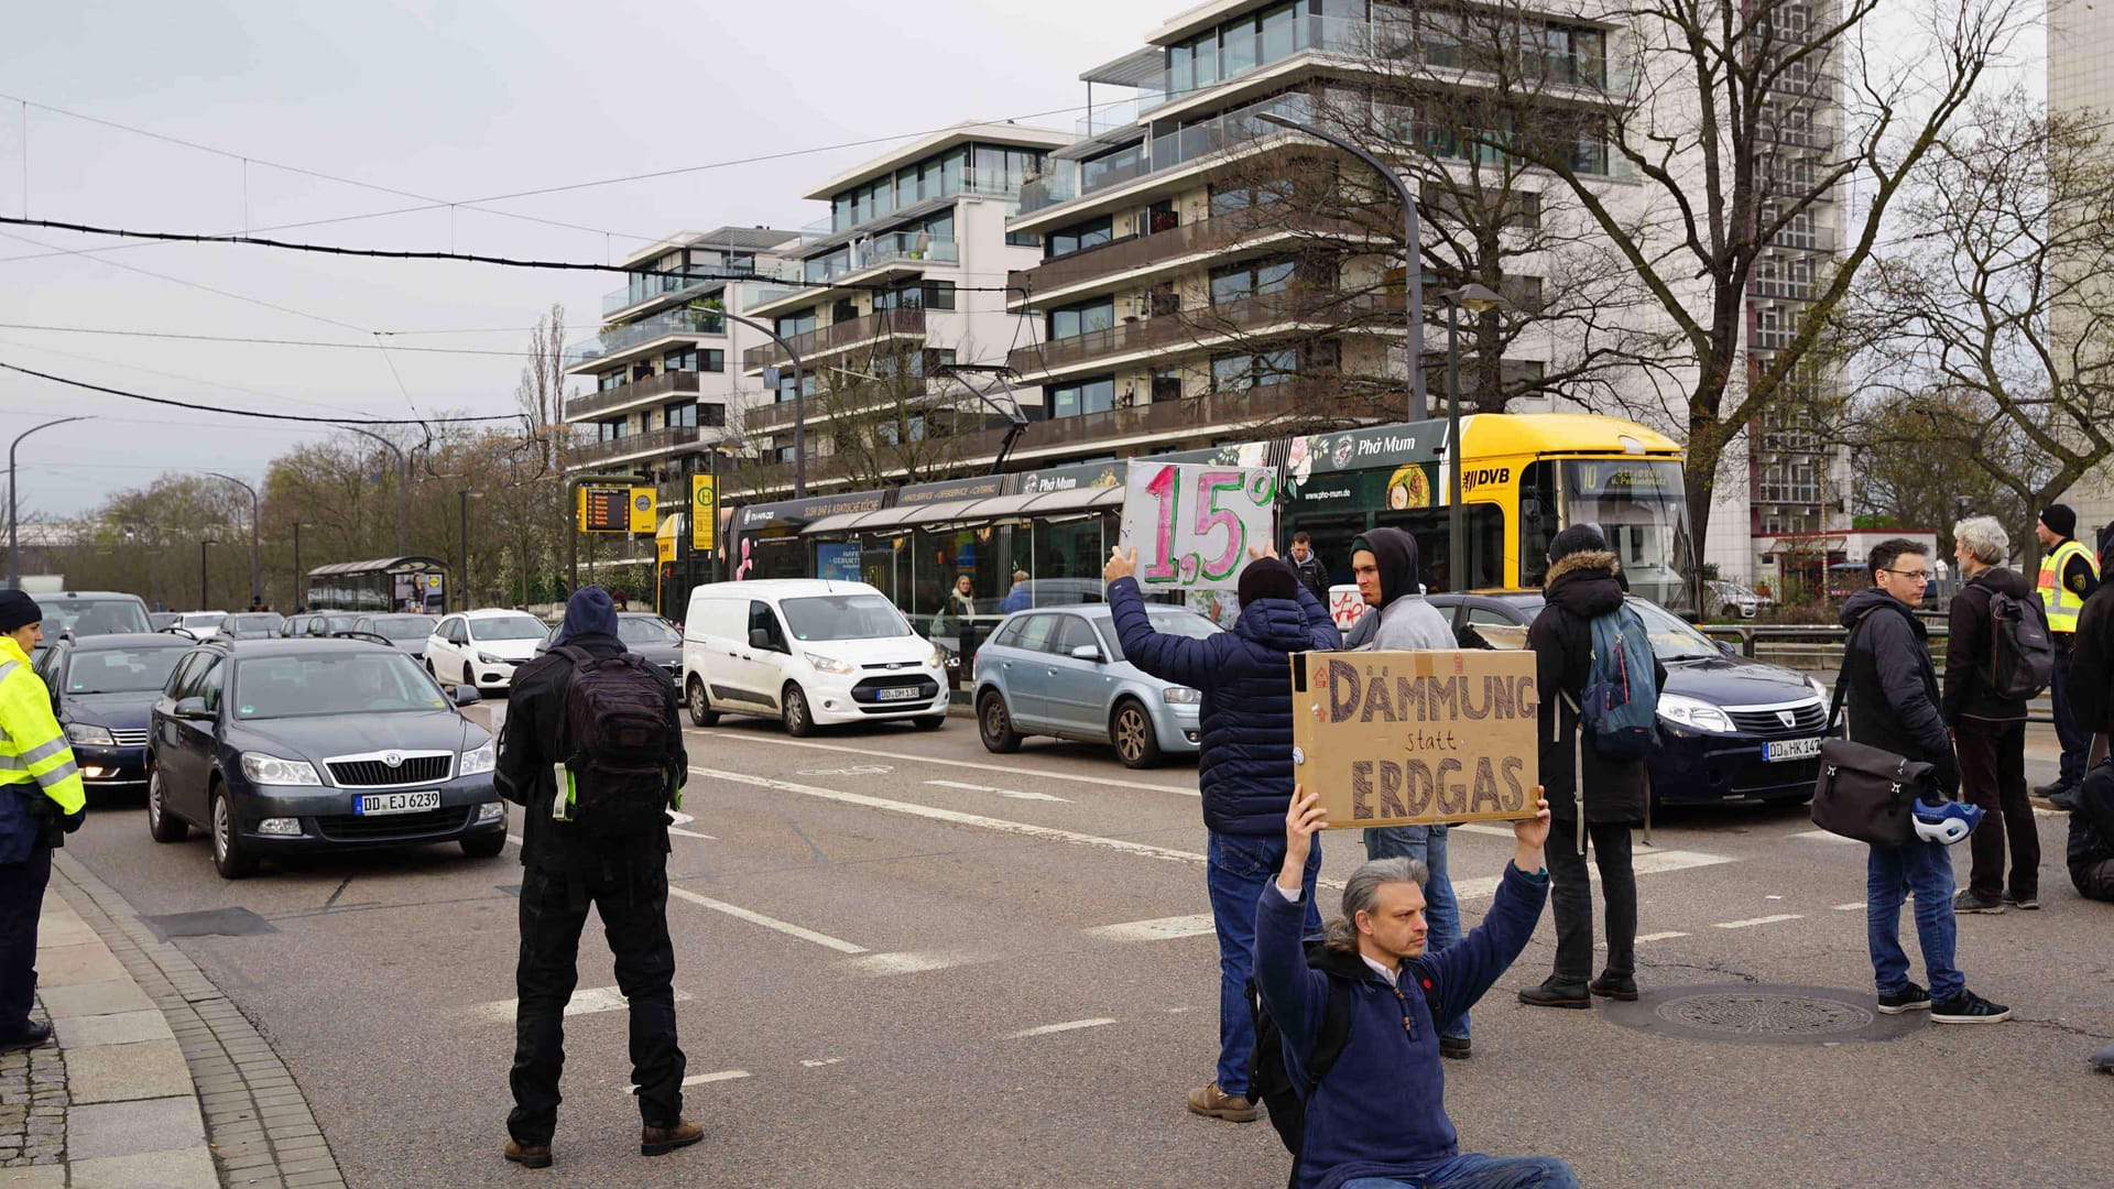
[[[1247,546],[1266,546],[1277,523],[1277,472],[1133,459],[1123,495],[1123,548],[1137,550],[1148,590],[1232,590]]]

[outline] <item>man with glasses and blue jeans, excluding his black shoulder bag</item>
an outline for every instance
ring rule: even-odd
[[[1924,605],[1930,556],[1924,546],[1894,537],[1871,550],[1867,569],[1873,584],[1852,594],[1841,609],[1841,624],[1850,628],[1843,650],[1850,738],[1930,764],[1932,789],[1920,800],[1930,800],[1930,793],[1949,800],[1960,791],[1960,766],[1939,713],[1939,675],[1930,662],[1928,633],[1911,611]],[[1900,948],[1900,906],[1911,893],[1928,990],[1909,980],[1909,954]],[[1953,863],[1943,844],[1920,836],[1905,846],[1871,846],[1865,863],[1865,933],[1881,1013],[1930,1011],[1939,1024],[2010,1020],[2008,1007],[1968,990],[1966,975],[1953,965]]]

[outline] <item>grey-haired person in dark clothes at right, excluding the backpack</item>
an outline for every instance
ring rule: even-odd
[[[1974,827],[1968,886],[1953,912],[2040,908],[2040,827],[2025,795],[2027,696],[1998,688],[1998,662],[2019,658],[2019,633],[2040,639],[2040,599],[2025,578],[2004,567],[2010,535],[1994,516],[1953,525],[1953,559],[1966,586],[1953,594],[1945,637],[1945,685],[1939,709],[1960,755],[1960,791],[1983,808]],[[2008,673],[2006,673],[2008,675]],[[2010,850],[2010,882],[2004,853]]]

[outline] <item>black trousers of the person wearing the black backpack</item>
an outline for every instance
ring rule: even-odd
[[[638,1117],[649,1128],[672,1128],[683,1117],[668,863],[660,855],[583,859],[579,884],[573,880],[564,870],[522,872],[522,956],[514,971],[520,1007],[514,1018],[514,1111],[507,1115],[507,1132],[520,1145],[548,1145],[558,1128],[564,1005],[579,982],[575,958],[590,901],[617,958],[617,988],[630,1001]]]

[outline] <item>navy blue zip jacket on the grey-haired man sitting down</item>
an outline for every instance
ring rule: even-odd
[[[1505,863],[1482,925],[1459,946],[1404,963],[1399,994],[1370,967],[1351,986],[1351,1039],[1306,1100],[1298,1189],[1416,1176],[1461,1155],[1431,1016],[1450,1020],[1482,999],[1535,935],[1547,899],[1545,874],[1526,876]],[[1304,914],[1306,906],[1287,901],[1275,876],[1256,901],[1256,986],[1285,1035],[1285,1066],[1302,1083],[1306,1054],[1321,1039],[1330,980],[1306,965]]]

